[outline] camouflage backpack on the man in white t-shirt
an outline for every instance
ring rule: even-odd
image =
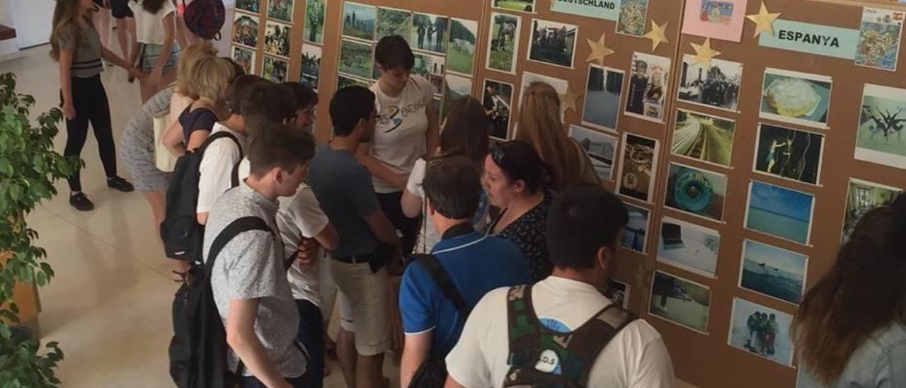
[[[503,386],[587,386],[604,347],[635,319],[635,315],[621,306],[611,304],[572,332],[555,333],[542,326],[535,315],[532,285],[510,288],[506,297],[510,369]]]

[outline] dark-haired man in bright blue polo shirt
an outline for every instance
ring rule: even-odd
[[[427,214],[442,239],[431,249],[431,257],[410,263],[402,278],[400,313],[406,344],[400,362],[400,386],[409,386],[429,354],[442,360],[466,322],[467,311],[458,310],[458,302],[445,296],[441,284],[451,284],[464,302],[461,307],[470,310],[492,289],[531,281],[519,247],[472,228],[471,218],[482,191],[475,163],[462,156],[430,160],[422,188]],[[432,273],[431,268],[439,271]],[[448,281],[436,279],[439,273]]]

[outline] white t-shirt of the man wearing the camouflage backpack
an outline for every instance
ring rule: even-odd
[[[449,375],[467,387],[500,387],[509,372],[506,297],[487,293],[468,315],[456,347],[447,355]],[[612,304],[593,286],[548,276],[532,289],[535,313],[545,324],[575,330]],[[638,319],[624,327],[594,362],[590,388],[670,388],[673,365],[660,334]]]

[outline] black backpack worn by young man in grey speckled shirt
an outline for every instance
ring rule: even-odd
[[[173,339],[169,344],[169,372],[178,388],[232,387],[242,377],[243,364],[236,372],[227,366],[226,330],[211,289],[211,268],[220,250],[236,235],[249,230],[266,230],[264,219],[238,218],[224,228],[208,253],[204,267],[194,266],[192,276],[201,279],[183,284],[173,300]]]

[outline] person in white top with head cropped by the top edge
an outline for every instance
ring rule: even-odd
[[[176,80],[179,44],[176,43],[176,7],[170,0],[130,2],[135,16],[135,44],[131,62],[149,76],[139,81],[141,102]],[[140,45],[139,45],[140,44]]]

